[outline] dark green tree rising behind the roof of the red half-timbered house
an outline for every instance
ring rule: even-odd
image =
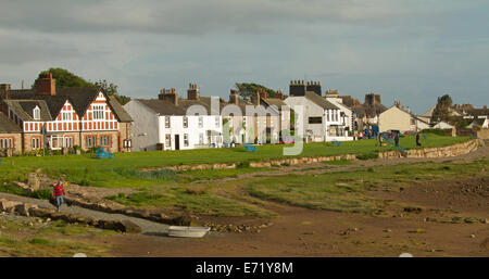
[[[57,87],[66,88],[66,87],[99,87],[103,90],[108,96],[113,96],[122,105],[126,104],[130,101],[129,97],[121,96],[117,92],[117,85],[106,81],[105,79],[99,79],[96,83],[87,81],[83,77],[79,77],[67,69],[52,67],[48,71],[42,71],[39,73],[39,76],[42,73],[50,73],[52,77],[57,80]]]

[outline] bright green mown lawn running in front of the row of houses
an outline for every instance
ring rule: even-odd
[[[424,147],[441,147],[463,142],[468,138],[452,138],[436,135],[427,135],[423,140]],[[304,144],[303,151],[298,156],[329,156],[341,154],[359,154],[368,156],[379,151],[390,150],[390,147],[376,147],[376,140],[360,140],[342,142],[340,147],[329,142]],[[414,149],[414,137],[408,136],[400,139],[400,145]],[[235,149],[206,149],[188,151],[153,151],[117,153],[115,158],[97,160],[92,155],[53,155],[53,156],[18,156],[3,158],[0,164],[0,182],[26,180],[27,174],[40,168],[42,173],[52,176],[65,176],[68,181],[86,186],[99,187],[133,187],[145,188],[175,180],[176,174],[168,170],[153,173],[139,172],[140,168],[152,168],[170,165],[187,165],[203,163],[235,163],[285,157],[283,148],[286,145],[261,145],[256,152],[244,152],[243,148]],[[256,169],[254,169],[256,170]],[[226,174],[226,172],[228,174]],[[246,170],[242,170],[246,172]],[[193,174],[211,178],[233,176],[231,170],[202,172]],[[191,179],[191,178],[190,178]]]

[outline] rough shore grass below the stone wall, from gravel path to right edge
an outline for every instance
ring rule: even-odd
[[[386,201],[367,198],[369,190],[399,191],[413,183],[452,177],[471,178],[486,169],[488,163],[484,158],[464,164],[423,162],[376,167],[353,166],[343,172],[159,186],[128,196],[121,194],[110,199],[126,205],[179,207],[214,216],[277,216],[265,210],[267,201],[312,210],[371,214],[383,208]],[[329,167],[325,164],[323,168]]]

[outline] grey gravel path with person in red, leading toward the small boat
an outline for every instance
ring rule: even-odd
[[[38,199],[34,199],[34,198],[22,196],[22,195],[10,194],[10,193],[2,193],[2,192],[0,192],[0,198],[4,198],[4,199],[11,200],[11,201],[20,201],[20,202],[24,202],[24,203],[36,204],[39,207],[43,207],[43,208],[53,208],[54,207],[47,200],[38,200]],[[123,219],[131,220],[135,224],[139,225],[139,227],[141,227],[142,233],[145,233],[145,234],[166,236],[168,232],[168,227],[170,227],[168,225],[161,224],[161,223],[154,223],[154,221],[150,221],[147,219],[130,217],[130,216],[126,216],[126,215],[122,215],[122,214],[111,214],[111,213],[104,213],[104,212],[99,212],[99,211],[92,211],[92,210],[87,210],[87,208],[75,206],[75,205],[66,206],[64,204],[61,206],[61,211],[65,212],[65,213],[96,217],[96,218],[104,219],[104,220],[123,220]]]

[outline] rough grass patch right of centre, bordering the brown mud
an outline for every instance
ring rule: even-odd
[[[413,181],[472,177],[487,168],[488,160],[467,164],[415,163],[358,168],[319,175],[287,175],[254,178],[243,189],[252,196],[313,210],[372,213],[383,201],[366,196],[366,190],[399,191]]]

